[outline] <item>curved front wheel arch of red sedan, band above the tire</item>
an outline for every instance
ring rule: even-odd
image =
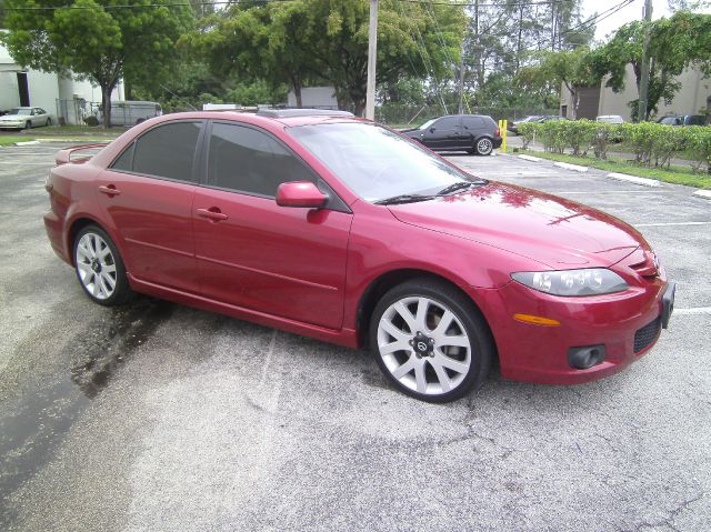
[[[378,278],[375,278],[369,285],[368,288],[363,291],[363,293],[361,294],[359,304],[358,304],[358,313],[357,313],[357,321],[356,321],[356,330],[358,333],[358,344],[361,347],[367,348],[368,347],[368,342],[369,342],[369,330],[370,330],[370,317],[373,312],[373,310],[375,309],[375,305],[378,304],[378,301],[380,301],[380,299],[392,288],[397,287],[398,284],[402,284],[405,281],[409,281],[411,279],[421,279],[421,278],[427,278],[427,279],[432,279],[432,280],[438,280],[440,282],[444,282],[447,284],[449,284],[452,289],[457,290],[458,292],[460,292],[462,295],[464,295],[469,301],[471,301],[471,304],[474,307],[474,309],[481,314],[484,323],[487,324],[487,328],[489,329],[489,334],[491,335],[492,339],[494,339],[493,335],[493,331],[491,329],[491,325],[489,323],[489,320],[487,320],[487,315],[484,313],[484,311],[481,309],[481,307],[471,298],[470,294],[468,294],[460,284],[458,284],[457,282],[452,281],[451,279],[448,279],[447,277],[443,277],[441,274],[438,273],[433,273],[431,271],[428,270],[421,270],[421,269],[417,269],[417,268],[407,268],[407,269],[398,269],[398,270],[390,270],[385,273],[380,274]],[[498,350],[495,349],[495,340],[493,341],[493,345],[494,345],[494,357],[498,358]]]

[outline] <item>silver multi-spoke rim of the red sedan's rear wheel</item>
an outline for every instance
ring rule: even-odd
[[[109,244],[97,233],[84,234],[77,244],[77,272],[96,299],[108,299],[116,290],[116,261]]]

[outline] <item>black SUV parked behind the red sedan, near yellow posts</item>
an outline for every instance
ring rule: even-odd
[[[468,151],[489,155],[501,147],[501,130],[491,117],[483,114],[451,114],[433,118],[403,134],[435,151]]]

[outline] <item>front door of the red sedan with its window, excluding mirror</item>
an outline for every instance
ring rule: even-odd
[[[207,154],[208,185],[193,202],[201,292],[340,329],[352,214],[277,205],[280,183],[318,178],[262,130],[216,122]]]

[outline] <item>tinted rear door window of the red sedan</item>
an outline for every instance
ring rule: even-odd
[[[199,134],[200,122],[173,122],[150,130],[136,141],[132,170],[146,175],[192,181]]]

